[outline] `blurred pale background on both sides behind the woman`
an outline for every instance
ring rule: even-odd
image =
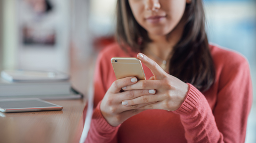
[[[204,0],[211,43],[243,54],[256,90],[256,3]],[[0,70],[58,70],[87,93],[99,50],[114,42],[116,0],[0,0]],[[246,141],[256,142],[256,94]]]

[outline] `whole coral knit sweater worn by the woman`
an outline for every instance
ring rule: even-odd
[[[86,142],[244,142],[252,104],[248,62],[236,52],[210,45],[216,81],[201,93],[193,85],[176,111],[145,110],[113,127],[101,114],[99,105],[116,80],[111,58],[127,55],[118,44],[103,49],[94,78],[94,113]],[[146,78],[153,76],[143,65]],[[121,104],[121,103],[120,103]]]

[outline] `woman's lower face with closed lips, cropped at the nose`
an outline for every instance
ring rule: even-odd
[[[122,0],[121,0],[122,1]],[[186,0],[129,0],[137,22],[150,35],[167,35],[181,20]]]

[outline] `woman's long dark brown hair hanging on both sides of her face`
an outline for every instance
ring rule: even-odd
[[[215,82],[216,73],[205,32],[202,0],[186,4],[184,16],[182,37],[170,53],[169,74],[204,92]],[[140,38],[142,43],[138,42]],[[117,1],[116,39],[125,51],[131,48],[135,52],[151,42],[146,30],[135,20],[128,0]]]

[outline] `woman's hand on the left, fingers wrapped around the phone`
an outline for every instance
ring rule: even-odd
[[[136,77],[118,79],[112,83],[111,87],[106,92],[104,98],[101,101],[100,110],[105,120],[111,126],[116,127],[130,117],[143,111],[138,110],[137,108],[152,104],[146,103],[133,106],[123,106],[125,105],[125,102],[122,102],[123,100],[134,99],[143,95],[153,95],[156,93],[154,89],[121,92],[122,88],[125,88],[127,85],[135,84],[137,81],[138,80]]]

